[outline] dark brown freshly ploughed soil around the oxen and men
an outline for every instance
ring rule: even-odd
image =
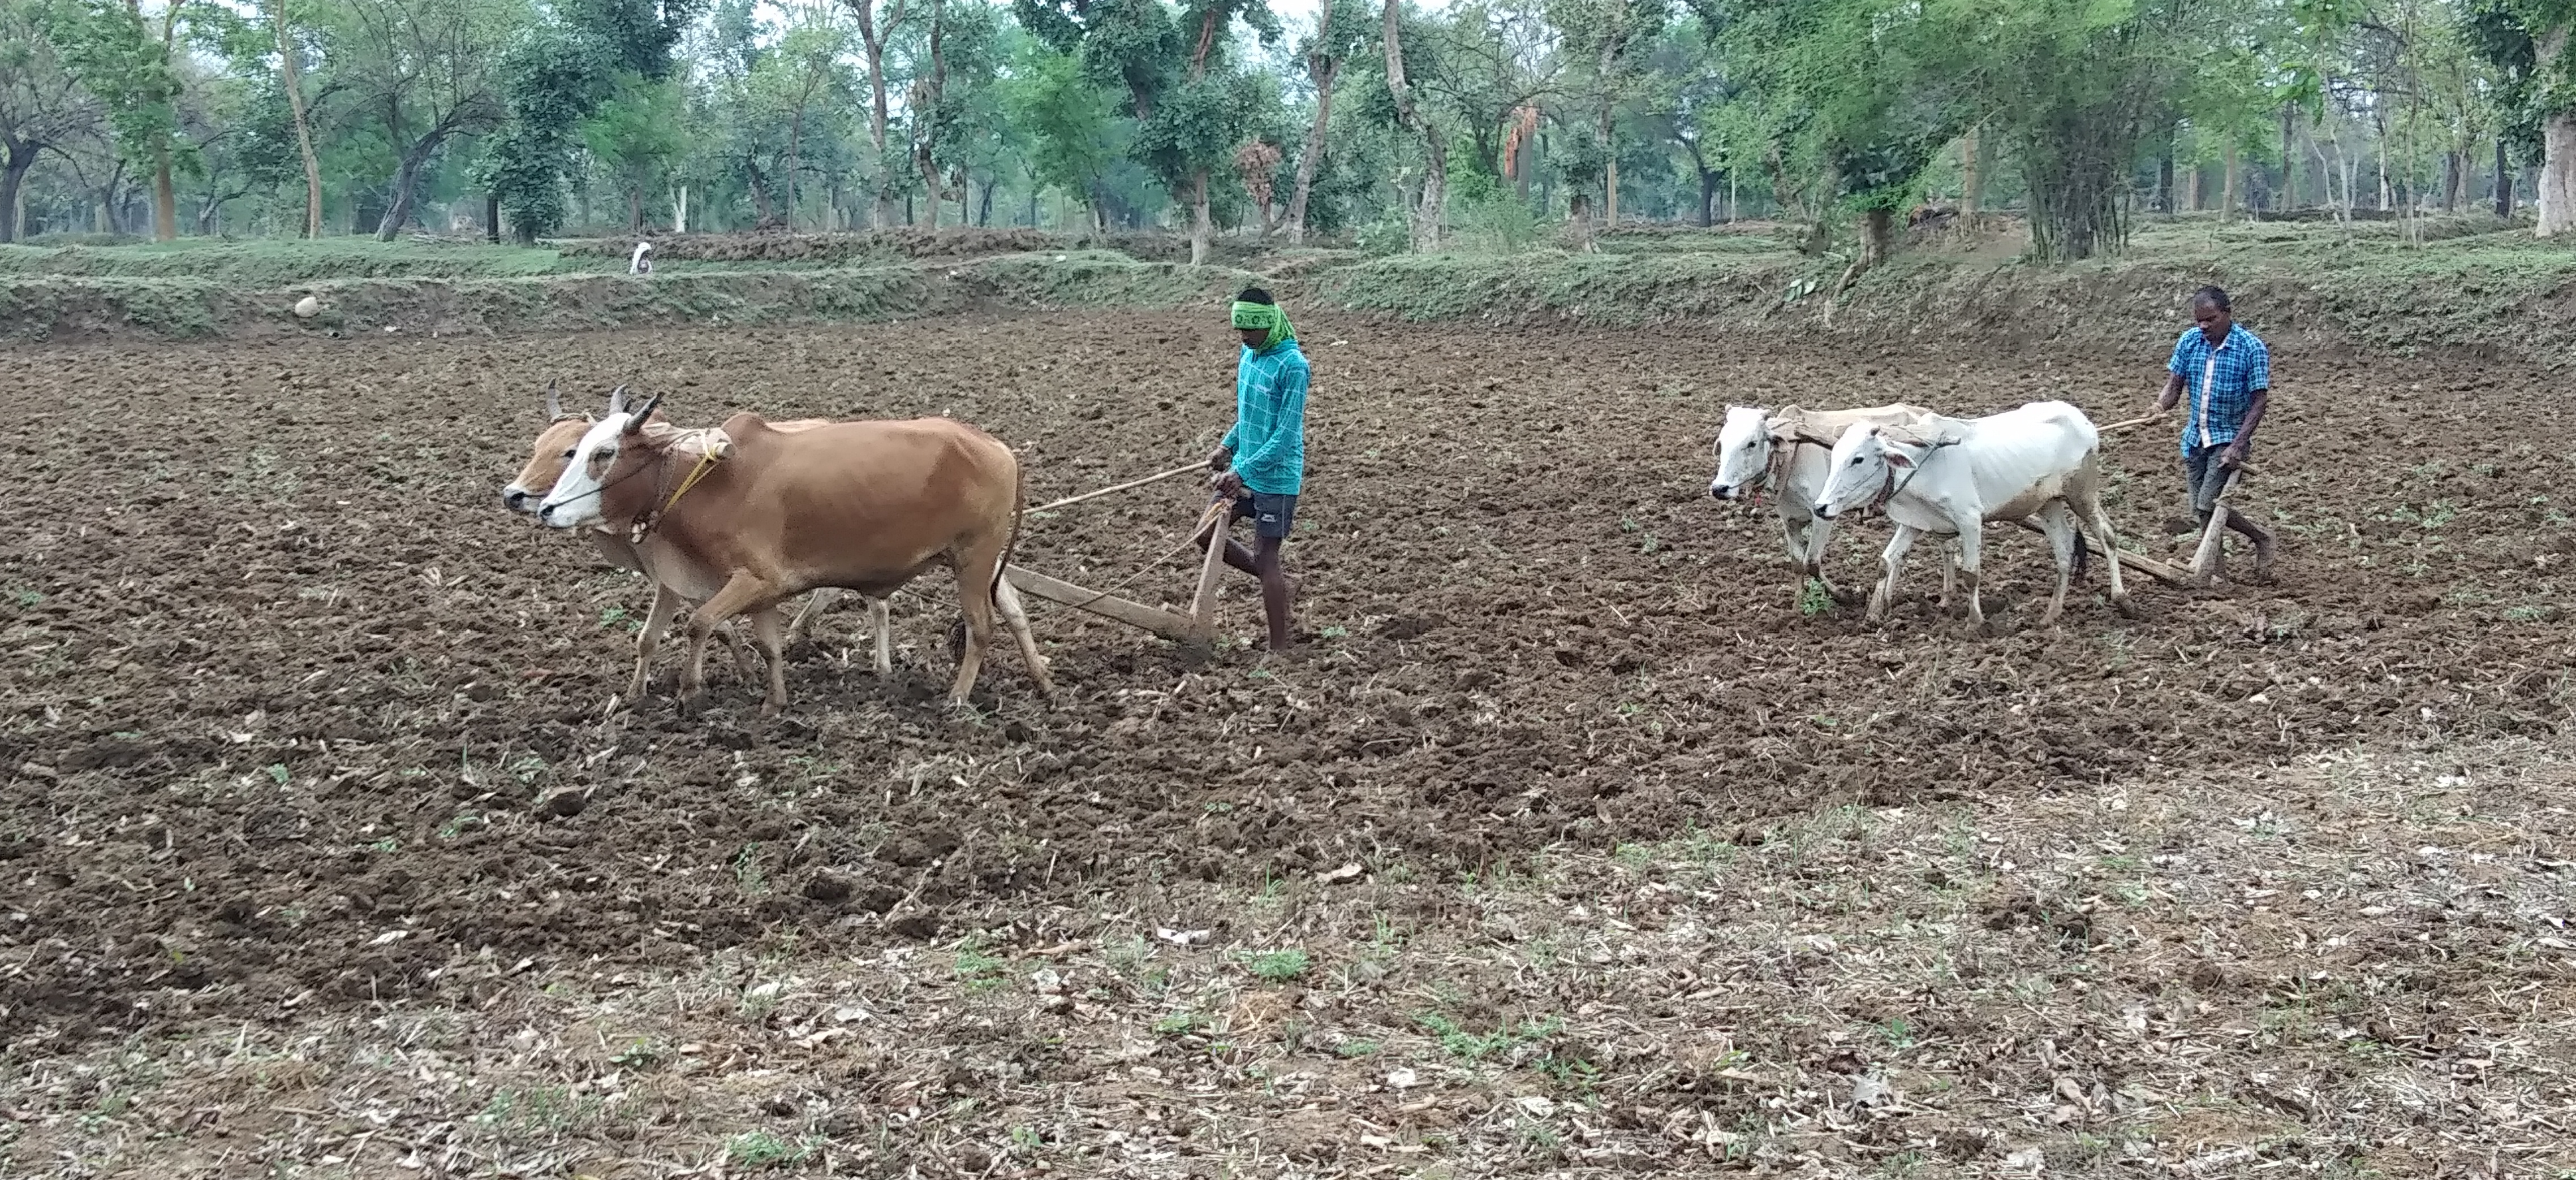
[[[649,593],[497,500],[546,381],[659,392],[685,425],[956,415],[1054,500],[1206,453],[1226,332],[1056,314],[8,356],[0,1036],[477,1002],[495,974],[440,964],[863,948],[1105,881],[1479,868],[2568,716],[2576,428],[2527,412],[2535,374],[2280,348],[2246,487],[2287,528],[2277,585],[2136,577],[2130,621],[2097,569],[2061,626],[2027,629],[2048,562],[1999,528],[2004,634],[1984,639],[1929,600],[1883,629],[1801,611],[1770,515],[1705,495],[1723,407],[2069,397],[2110,423],[2161,356],[1303,330],[1309,660],[1193,657],[1036,605],[1061,698],[1005,652],[979,711],[951,714],[938,575],[896,598],[891,683],[835,608],[778,721],[721,657],[706,716],[654,696],[603,721]],[[2169,430],[2107,451],[2115,520],[2184,559]],[[1108,585],[1193,513],[1159,484],[1033,520],[1020,554]],[[1847,528],[1837,575],[1865,585],[1880,541]],[[1911,590],[1937,585],[1929,554]],[[1128,593],[1177,600],[1188,577],[1175,559]],[[1234,636],[1257,634],[1247,590]],[[538,806],[564,788],[587,806]]]

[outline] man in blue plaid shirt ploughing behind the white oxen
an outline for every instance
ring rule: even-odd
[[[2228,474],[2244,466],[2254,446],[2254,428],[2262,425],[2264,404],[2272,397],[2272,350],[2236,322],[2228,294],[2215,286],[2192,291],[2192,325],[2182,340],[2174,340],[2156,412],[2172,410],[2190,394],[2190,417],[2182,423],[2182,471],[2192,492],[2192,518],[2208,526],[2218,495],[2228,487]],[[2228,508],[2228,528],[2254,541],[2254,575],[2269,577],[2272,533],[2236,508]]]

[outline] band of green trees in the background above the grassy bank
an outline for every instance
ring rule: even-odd
[[[2576,0],[0,0],[0,240],[2576,224]]]

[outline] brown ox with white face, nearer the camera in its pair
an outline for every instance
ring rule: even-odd
[[[1020,531],[1020,461],[1002,441],[945,417],[781,430],[744,412],[724,423],[732,453],[701,461],[644,428],[657,404],[595,423],[536,515],[641,538],[652,577],[706,603],[688,623],[683,706],[706,685],[716,623],[752,616],[770,657],[762,714],[775,714],[788,696],[778,603],[817,587],[884,598],[933,564],[956,572],[966,613],[948,701],[963,703],[974,688],[997,605],[1038,690],[1054,693],[1020,600],[1002,582]],[[639,662],[636,685],[641,678]]]

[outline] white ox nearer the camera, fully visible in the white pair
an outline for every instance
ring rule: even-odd
[[[2110,600],[2128,613],[2120,585],[2120,536],[2102,513],[2102,435],[2066,402],[2030,402],[1986,417],[1927,415],[1904,425],[1852,423],[1834,443],[1832,471],[1816,515],[1832,520],[1860,508],[1896,523],[1886,575],[1870,593],[1870,621],[1886,618],[1906,549],[1922,533],[1958,536],[1958,577],[1968,585],[1968,618],[1986,626],[1978,603],[1978,549],[1986,520],[2038,518],[2058,559],[2058,590],[2040,626],[2056,623],[2066,582],[2081,557],[2084,531],[2110,567]]]

